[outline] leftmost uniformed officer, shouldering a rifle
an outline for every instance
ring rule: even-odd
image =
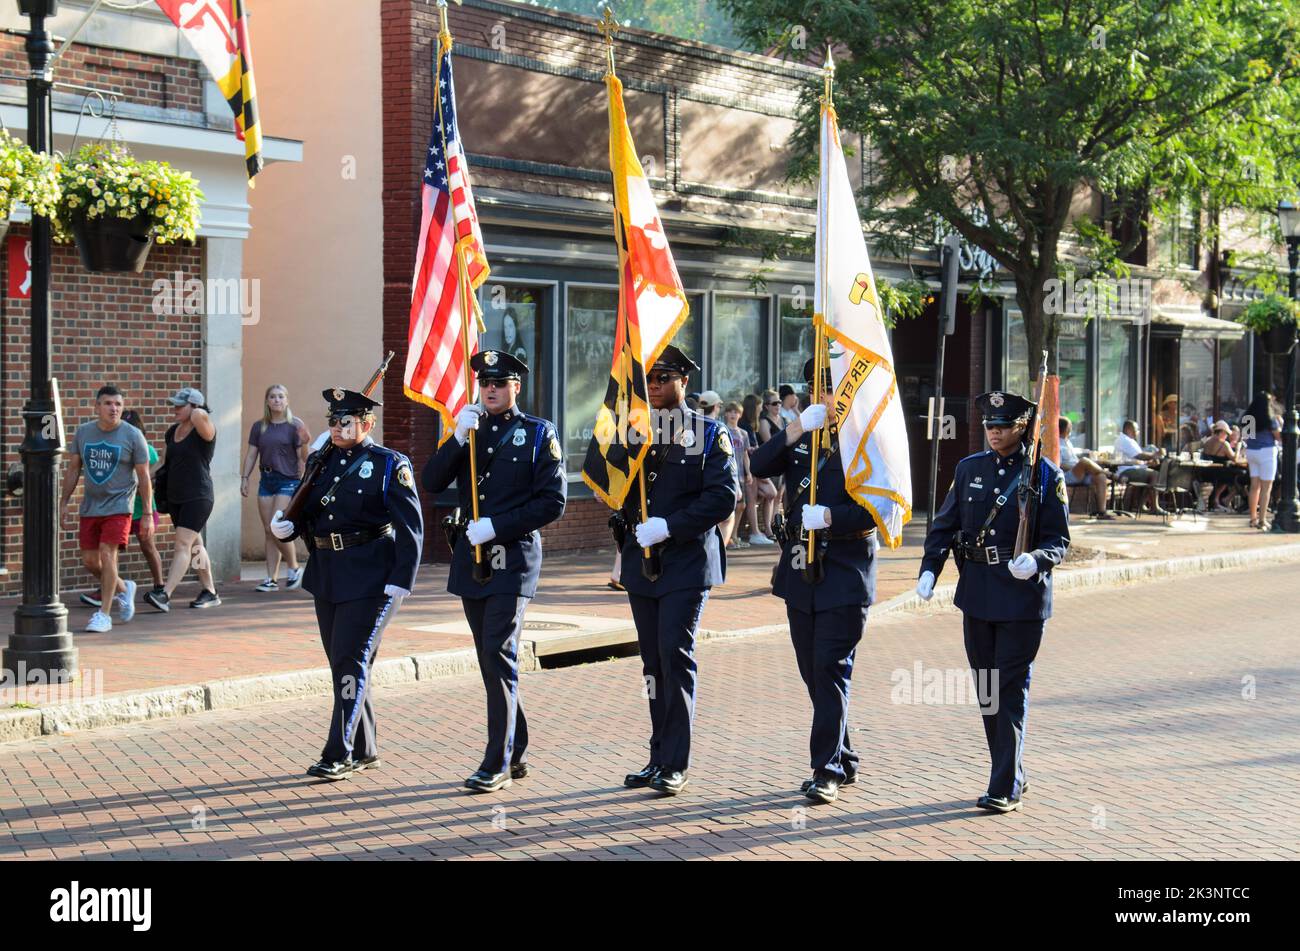
[[[307,774],[337,781],[380,765],[370,669],[415,586],[424,518],[411,460],[370,439],[380,401],[343,388],[322,395],[332,447],[308,459],[308,472],[321,466],[296,521],[277,512],[270,530],[283,540],[302,535],[311,548],[303,587],[316,599],[334,712],[320,763]]]

